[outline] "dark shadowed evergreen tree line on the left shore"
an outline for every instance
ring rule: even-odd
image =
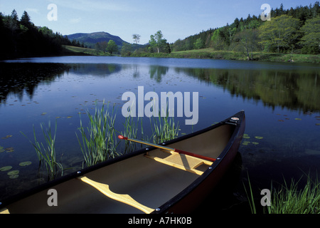
[[[46,26],[35,26],[26,11],[19,19],[15,9],[10,15],[0,12],[0,34],[0,58],[57,55],[63,45],[83,46]]]

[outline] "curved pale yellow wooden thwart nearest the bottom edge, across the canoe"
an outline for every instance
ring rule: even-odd
[[[112,192],[109,188],[109,185],[102,184],[100,182],[95,182],[94,180],[90,180],[89,178],[87,178],[85,176],[78,177],[78,179],[82,180],[82,182],[85,182],[88,185],[91,185],[92,187],[95,187],[95,189],[99,190],[107,197],[110,197],[111,199],[117,200],[119,202],[123,202],[124,204],[128,204],[132,207],[135,207],[146,214],[150,214],[151,212],[154,211],[154,209],[152,209],[150,207],[146,207],[143,204],[140,204],[139,202],[134,200],[129,195],[117,194],[117,193]]]

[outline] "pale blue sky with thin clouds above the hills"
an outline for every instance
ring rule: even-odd
[[[0,0],[0,12],[16,9],[19,19],[27,11],[36,26],[47,26],[63,35],[105,31],[140,44],[162,31],[169,43],[188,36],[232,24],[235,18],[259,16],[262,4],[284,9],[309,6],[313,0]],[[50,5],[51,4],[51,5]],[[52,7],[56,6],[56,10]],[[56,13],[56,14],[53,14]],[[48,17],[49,14],[49,17]]]

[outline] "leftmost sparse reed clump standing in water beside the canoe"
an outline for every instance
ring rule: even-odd
[[[34,149],[36,150],[36,154],[38,155],[38,160],[40,164],[46,167],[46,170],[48,172],[48,179],[53,180],[55,179],[55,176],[58,174],[59,170],[61,170],[61,176],[63,176],[63,165],[57,162],[56,153],[55,153],[55,135],[57,133],[57,122],[55,122],[55,131],[53,135],[51,133],[50,122],[48,123],[48,128],[46,130],[43,128],[42,123],[40,124],[40,126],[41,126],[45,143],[43,144],[43,142],[38,141],[34,126],[33,126],[34,142],[32,142],[31,140],[29,141],[33,145]],[[26,137],[25,134],[23,135]]]

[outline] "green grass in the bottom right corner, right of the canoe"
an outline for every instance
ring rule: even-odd
[[[320,214],[320,183],[318,177],[311,180],[306,175],[307,180],[304,187],[299,189],[299,181],[291,180],[291,184],[284,180],[279,190],[271,192],[270,206],[264,207],[263,212],[267,214]],[[250,205],[252,214],[257,214],[257,206],[252,193],[252,187],[249,181],[249,190],[245,193]]]

